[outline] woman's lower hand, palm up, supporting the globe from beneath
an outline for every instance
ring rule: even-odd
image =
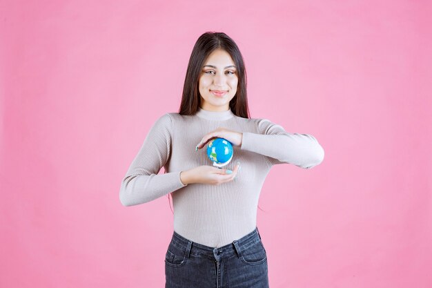
[[[183,184],[203,183],[203,184],[222,184],[231,181],[237,176],[240,163],[235,165],[232,173],[227,173],[228,169],[220,169],[213,166],[202,165],[187,171],[181,171],[180,180]]]

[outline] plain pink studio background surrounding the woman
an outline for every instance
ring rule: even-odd
[[[119,187],[208,30],[325,151],[262,189],[271,287],[432,287],[431,2],[265,3],[0,1],[0,287],[163,287],[168,195]]]

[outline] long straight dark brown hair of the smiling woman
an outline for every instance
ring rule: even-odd
[[[237,93],[230,101],[231,111],[243,118],[251,118],[248,107],[248,97],[246,92],[246,68],[242,53],[240,52],[234,40],[228,37],[224,32],[205,32],[201,35],[190,54],[188,70],[184,79],[183,95],[179,108],[180,115],[195,115],[201,97],[199,97],[199,76],[202,72],[202,66],[208,55],[216,49],[222,49],[228,52],[237,66],[236,74],[238,79]]]

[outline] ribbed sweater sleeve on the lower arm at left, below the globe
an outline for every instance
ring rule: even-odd
[[[132,206],[155,200],[184,186],[180,173],[157,175],[170,157],[173,122],[166,113],[150,128],[144,144],[121,181],[120,202]]]

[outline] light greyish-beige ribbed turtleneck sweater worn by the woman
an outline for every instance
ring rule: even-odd
[[[219,127],[243,133],[242,145],[233,146],[231,162],[237,177],[219,185],[184,185],[180,172],[212,165],[206,147],[195,151],[202,137]],[[274,164],[311,169],[324,160],[324,149],[309,134],[287,133],[268,119],[237,117],[230,110],[199,109],[195,115],[166,113],[150,128],[144,144],[121,181],[124,206],[150,202],[172,193],[174,231],[184,238],[219,248],[242,238],[256,227],[259,193]],[[164,167],[165,173],[159,174]]]

